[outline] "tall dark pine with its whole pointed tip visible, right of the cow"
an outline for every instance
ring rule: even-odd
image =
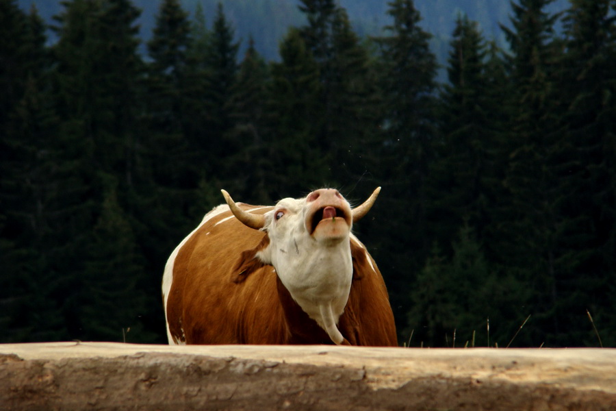
[[[466,221],[485,244],[487,258],[500,261],[500,198],[506,169],[511,92],[498,47],[486,43],[476,23],[459,16],[448,59],[448,84],[441,88],[441,138],[428,182],[428,214],[436,239],[447,248]]]

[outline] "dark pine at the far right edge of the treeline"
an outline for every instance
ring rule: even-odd
[[[557,315],[572,340],[593,341],[582,318],[589,309],[606,329],[604,344],[614,345],[607,312],[613,311],[616,259],[616,72],[615,17],[611,1],[572,1],[564,19],[566,53],[561,60],[562,123],[566,147],[559,181],[565,198]],[[581,324],[580,324],[581,323]],[[580,325],[578,325],[580,324]]]

